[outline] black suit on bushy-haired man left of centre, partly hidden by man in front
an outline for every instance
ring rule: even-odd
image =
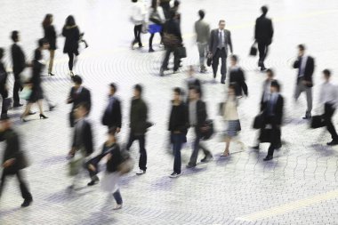
[[[68,96],[68,104],[73,103],[73,106],[69,113],[70,127],[74,127],[74,120],[75,120],[74,115],[73,115],[74,108],[76,108],[76,106],[81,102],[85,102],[89,106],[91,106],[92,104],[91,92],[88,89],[86,89],[84,86],[81,86],[79,89],[80,90],[76,90],[75,87],[72,87],[70,90],[69,96]]]

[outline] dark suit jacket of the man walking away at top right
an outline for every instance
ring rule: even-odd
[[[273,36],[272,21],[264,15],[257,18],[254,27],[254,39],[263,44],[271,44]]]

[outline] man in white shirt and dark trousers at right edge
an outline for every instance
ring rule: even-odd
[[[334,146],[338,145],[338,135],[332,123],[332,117],[334,116],[335,109],[338,107],[338,87],[331,83],[330,70],[324,69],[323,76],[325,82],[320,89],[319,103],[324,105],[324,122],[327,131],[332,137],[332,141],[328,142],[327,145]]]

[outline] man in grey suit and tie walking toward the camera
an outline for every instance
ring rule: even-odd
[[[228,57],[228,45],[231,54],[232,42],[231,33],[225,28],[225,20],[220,20],[218,24],[219,28],[213,29],[210,34],[209,53],[213,57],[213,81],[217,75],[217,69],[219,60],[221,58],[221,84],[225,84],[225,76],[227,74],[227,57]]]

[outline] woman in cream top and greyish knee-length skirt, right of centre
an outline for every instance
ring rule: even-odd
[[[224,119],[224,124],[227,126],[225,131],[225,150],[221,154],[221,157],[229,156],[230,141],[236,137],[237,133],[241,130],[237,114],[238,101],[235,90],[235,85],[229,84],[228,98],[224,103],[221,103],[221,116]]]

